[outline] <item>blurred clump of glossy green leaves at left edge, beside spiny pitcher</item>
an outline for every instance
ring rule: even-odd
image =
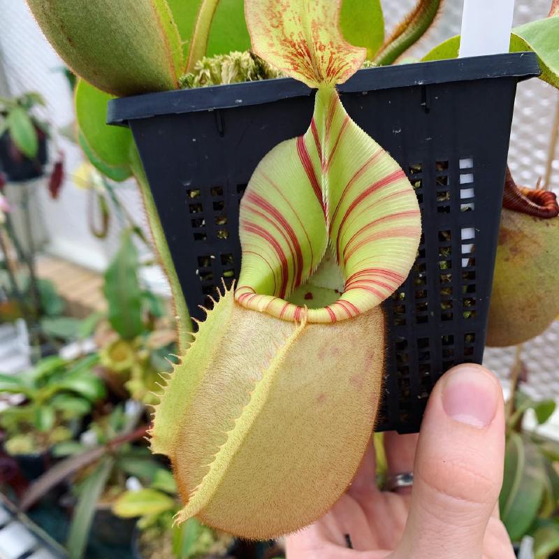
[[[17,377],[0,375],[0,392],[20,393],[24,402],[0,412],[8,452],[42,453],[68,440],[75,421],[87,415],[105,395],[93,367],[96,355],[78,361],[45,358]]]

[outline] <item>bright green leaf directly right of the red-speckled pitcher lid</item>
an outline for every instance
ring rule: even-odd
[[[365,47],[372,59],[384,42],[384,15],[380,0],[343,0],[340,26],[351,45]]]

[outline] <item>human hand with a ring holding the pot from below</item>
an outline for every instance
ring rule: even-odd
[[[491,372],[451,369],[430,396],[419,437],[384,437],[389,475],[414,472],[413,488],[377,488],[371,444],[333,509],[287,539],[287,559],[514,559],[498,509],[503,407]]]

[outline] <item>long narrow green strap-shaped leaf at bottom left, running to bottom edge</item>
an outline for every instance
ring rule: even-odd
[[[114,460],[110,456],[103,458],[80,487],[78,503],[74,509],[66,542],[70,559],[82,559],[84,556],[97,502],[103,493],[113,465]]]

